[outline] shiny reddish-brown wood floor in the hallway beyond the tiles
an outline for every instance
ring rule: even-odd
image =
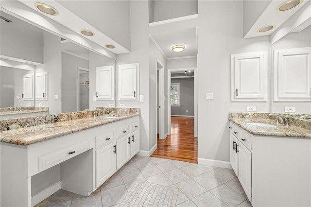
[[[157,149],[151,156],[198,163],[198,142],[193,135],[193,117],[171,117],[171,135],[157,139]]]

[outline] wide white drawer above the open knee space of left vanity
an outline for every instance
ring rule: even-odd
[[[89,139],[81,141],[78,144],[54,151],[52,153],[38,156],[38,171],[48,169],[71,157],[79,155],[89,149]]]

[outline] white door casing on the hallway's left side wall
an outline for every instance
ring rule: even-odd
[[[164,132],[164,65],[158,60],[155,59],[156,70],[159,70],[159,138],[165,139],[167,137],[167,133]],[[159,69],[158,69],[159,68]],[[156,76],[157,79],[157,76]],[[156,91],[156,98],[155,98],[155,114],[157,115],[157,81],[155,82],[155,91]],[[155,116],[155,131],[157,131],[157,116]],[[156,132],[157,133],[157,132]],[[156,136],[157,137],[157,136]],[[157,140],[157,139],[156,139]]]

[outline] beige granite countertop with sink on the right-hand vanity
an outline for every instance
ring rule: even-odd
[[[233,113],[232,113],[233,114]],[[268,117],[242,118],[229,116],[229,121],[232,121],[246,132],[253,135],[261,136],[276,136],[276,137],[296,137],[296,138],[311,138],[311,130],[300,126],[284,126],[281,123],[276,123],[276,119]],[[267,123],[276,127],[254,126],[246,123]],[[297,124],[298,125],[298,124]]]

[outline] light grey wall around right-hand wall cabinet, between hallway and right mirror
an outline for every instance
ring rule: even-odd
[[[247,105],[257,106],[258,112],[270,111],[270,99],[267,102],[251,103],[230,101],[230,55],[242,52],[269,52],[270,39],[242,38],[241,0],[199,1],[198,8],[198,158],[199,161],[211,159],[228,162],[228,113],[245,112]],[[214,99],[206,100],[206,92],[213,92]]]

